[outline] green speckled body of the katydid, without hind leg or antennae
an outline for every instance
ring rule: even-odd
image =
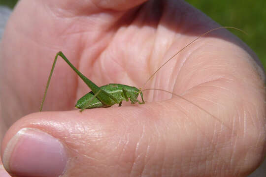
[[[122,85],[122,84],[107,84],[105,86],[101,86],[100,89],[104,90],[106,93],[112,95],[116,98],[119,103],[122,101],[129,101],[134,104],[137,102],[137,97],[139,94],[139,90],[135,87]],[[124,91],[123,91],[124,90]],[[102,103],[97,96],[90,91],[89,93],[82,96],[75,105],[75,108],[78,109],[92,109],[92,108],[106,108],[117,104],[113,99],[109,98],[109,104],[106,105]],[[121,106],[121,104],[120,104]]]

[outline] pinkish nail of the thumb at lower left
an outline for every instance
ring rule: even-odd
[[[8,142],[3,153],[5,169],[18,177],[59,177],[67,157],[63,144],[34,128],[23,128]]]

